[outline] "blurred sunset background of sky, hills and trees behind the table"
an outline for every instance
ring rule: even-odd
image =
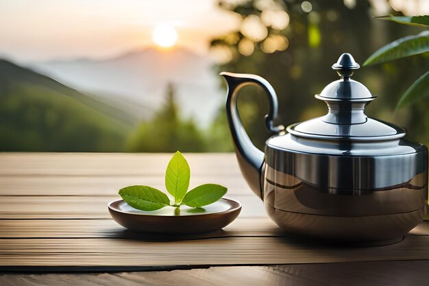
[[[275,88],[278,123],[327,112],[314,98],[343,52],[362,64],[423,28],[376,16],[429,14],[424,0],[0,1],[1,152],[228,152],[220,71]],[[367,115],[429,143],[429,101],[395,110],[428,54],[356,71],[378,99]],[[238,102],[259,147],[262,91]]]

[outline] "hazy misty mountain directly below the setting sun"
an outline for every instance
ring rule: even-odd
[[[147,48],[107,60],[53,60],[30,67],[79,91],[116,100],[118,108],[129,112],[134,111],[121,102],[132,102],[135,108],[160,108],[167,85],[173,83],[182,115],[194,117],[203,126],[212,121],[225,99],[212,61],[182,48]],[[140,114],[143,117],[145,112]]]

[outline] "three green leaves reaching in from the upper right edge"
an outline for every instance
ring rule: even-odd
[[[428,27],[429,16],[387,16],[381,19],[401,23],[404,25],[418,25]],[[389,45],[378,49],[365,61],[365,64],[378,64],[380,62],[390,62],[408,56],[416,56],[429,51],[429,31],[426,30],[416,36],[406,36],[393,41]],[[418,78],[402,95],[396,108],[401,108],[408,104],[413,104],[419,99],[428,96],[428,72]]]

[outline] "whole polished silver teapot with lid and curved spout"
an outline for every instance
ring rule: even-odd
[[[286,233],[345,243],[383,245],[402,241],[422,222],[428,193],[428,148],[404,138],[406,130],[365,115],[376,96],[351,79],[359,69],[350,53],[332,65],[340,80],[317,99],[322,117],[275,126],[278,99],[258,75],[222,72],[226,111],[236,157],[249,187],[269,217]],[[249,139],[237,109],[243,86],[268,97],[266,126],[275,133],[265,152]]]

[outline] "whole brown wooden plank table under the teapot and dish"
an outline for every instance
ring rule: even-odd
[[[185,156],[191,187],[223,184],[243,204],[230,226],[166,237],[111,219],[121,187],[164,189],[171,154],[0,154],[0,285],[428,285],[428,223],[392,246],[300,241],[267,218],[234,154]]]

